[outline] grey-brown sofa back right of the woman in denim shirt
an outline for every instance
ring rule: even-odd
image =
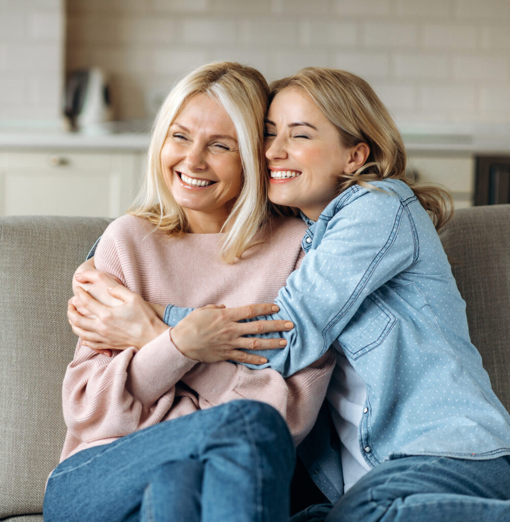
[[[459,209],[440,236],[467,303],[471,341],[510,410],[510,205]]]

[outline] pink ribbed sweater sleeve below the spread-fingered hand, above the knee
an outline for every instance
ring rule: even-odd
[[[251,370],[227,361],[198,364],[182,378],[204,407],[234,399],[267,402],[289,425],[295,445],[312,429],[336,363],[333,349],[291,377],[274,370]],[[205,378],[207,375],[207,378]]]

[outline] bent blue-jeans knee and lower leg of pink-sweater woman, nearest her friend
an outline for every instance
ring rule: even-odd
[[[234,401],[207,440],[203,522],[279,522],[289,516],[294,446],[287,424],[263,402]]]

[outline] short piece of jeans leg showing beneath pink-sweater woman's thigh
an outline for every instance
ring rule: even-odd
[[[204,466],[196,459],[156,469],[144,490],[140,522],[200,522],[203,474]]]

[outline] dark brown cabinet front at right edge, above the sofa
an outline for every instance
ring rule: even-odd
[[[477,156],[475,205],[510,203],[510,156]]]

